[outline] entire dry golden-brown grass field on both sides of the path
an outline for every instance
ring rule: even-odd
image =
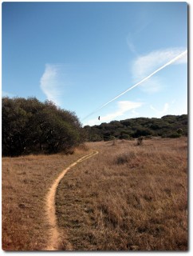
[[[89,142],[57,187],[59,250],[187,250],[187,138]],[[75,154],[2,158],[2,249],[44,250],[45,194]]]

